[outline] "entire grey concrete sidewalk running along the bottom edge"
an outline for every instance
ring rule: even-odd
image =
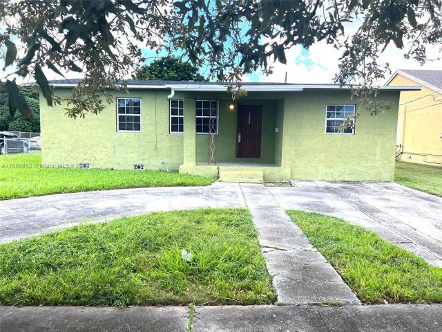
[[[187,324],[186,306],[0,306],[2,332],[184,332]],[[442,305],[204,306],[195,308],[191,331],[436,332],[442,331]]]

